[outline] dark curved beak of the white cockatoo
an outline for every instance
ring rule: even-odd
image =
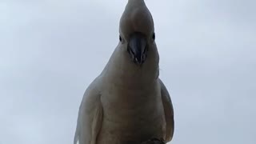
[[[146,60],[146,37],[140,33],[134,33],[130,37],[128,52],[135,63],[142,65]]]

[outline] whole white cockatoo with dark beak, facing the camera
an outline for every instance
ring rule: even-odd
[[[159,75],[154,22],[144,0],[129,0],[119,43],[90,83],[78,111],[74,144],[170,142],[174,109]]]

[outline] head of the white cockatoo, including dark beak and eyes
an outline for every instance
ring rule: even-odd
[[[146,62],[148,50],[154,45],[154,22],[144,1],[129,1],[122,14],[119,41],[132,61],[141,66]]]

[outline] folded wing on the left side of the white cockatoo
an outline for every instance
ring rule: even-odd
[[[74,144],[96,144],[102,126],[103,110],[100,97],[97,82],[94,81],[87,88],[79,107]]]

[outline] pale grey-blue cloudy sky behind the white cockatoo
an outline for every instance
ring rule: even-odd
[[[0,0],[0,144],[71,144],[126,0]],[[174,144],[256,143],[256,1],[146,0]]]

